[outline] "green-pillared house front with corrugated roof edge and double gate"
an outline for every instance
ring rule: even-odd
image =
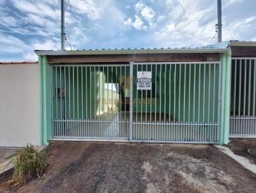
[[[42,144],[228,143],[229,48],[35,52]]]

